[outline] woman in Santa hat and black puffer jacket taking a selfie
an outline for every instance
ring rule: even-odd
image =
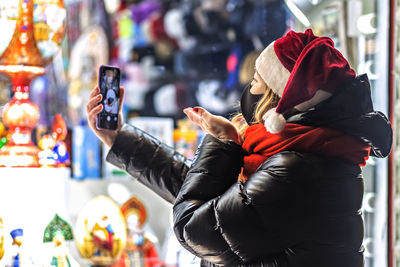
[[[360,166],[392,142],[368,78],[311,30],[270,44],[255,70],[235,125],[184,110],[208,133],[192,163],[132,126],[98,131],[98,89],[89,123],[109,162],[174,204],[175,234],[202,266],[363,266]]]

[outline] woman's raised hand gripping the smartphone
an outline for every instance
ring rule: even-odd
[[[123,124],[123,116],[122,116],[122,101],[124,99],[125,90],[123,87],[120,87],[120,98],[119,98],[119,107],[118,107],[118,127],[116,130],[108,130],[108,129],[97,129],[96,120],[97,114],[103,110],[103,104],[99,104],[102,101],[102,95],[100,94],[100,89],[98,87],[94,88],[90,93],[89,101],[86,105],[86,112],[88,117],[89,127],[92,131],[97,135],[97,137],[107,146],[112,147],[114,144],[115,138],[117,137],[118,131],[121,129]]]

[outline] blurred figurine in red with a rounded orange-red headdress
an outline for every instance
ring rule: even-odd
[[[126,248],[121,258],[112,267],[161,267],[155,238],[143,230],[147,212],[143,203],[132,197],[121,207],[127,226]]]

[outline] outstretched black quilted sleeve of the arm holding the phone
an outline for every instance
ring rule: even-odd
[[[146,132],[125,124],[106,160],[170,203],[182,186],[191,161]]]

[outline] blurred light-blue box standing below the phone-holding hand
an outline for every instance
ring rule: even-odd
[[[72,129],[73,178],[99,179],[101,170],[100,141],[88,126]]]

